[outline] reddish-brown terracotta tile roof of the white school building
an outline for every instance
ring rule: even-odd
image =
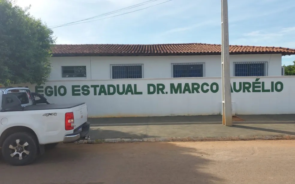
[[[293,55],[295,49],[284,47],[262,47],[230,45],[230,54],[282,54]],[[183,44],[85,44],[55,45],[53,56],[176,56],[176,55],[220,55],[221,45],[203,43]]]

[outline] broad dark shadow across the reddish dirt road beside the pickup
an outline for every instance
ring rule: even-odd
[[[60,144],[32,165],[1,162],[1,184],[229,183],[204,172],[215,165],[205,154],[171,142]]]

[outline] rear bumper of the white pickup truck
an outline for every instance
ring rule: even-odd
[[[90,123],[85,122],[81,126],[76,128],[73,134],[65,135],[63,142],[70,143],[70,142],[75,142],[76,140],[79,140],[79,139],[85,139],[86,135],[89,133],[89,129],[90,129]]]

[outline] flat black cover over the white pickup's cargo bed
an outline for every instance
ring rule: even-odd
[[[69,109],[83,105],[82,103],[70,103],[70,104],[37,104],[37,105],[28,105],[24,108],[24,111],[37,111],[37,110],[51,110],[51,109]]]

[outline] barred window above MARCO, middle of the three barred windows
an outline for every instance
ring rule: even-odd
[[[172,63],[172,77],[204,77],[205,63]]]

